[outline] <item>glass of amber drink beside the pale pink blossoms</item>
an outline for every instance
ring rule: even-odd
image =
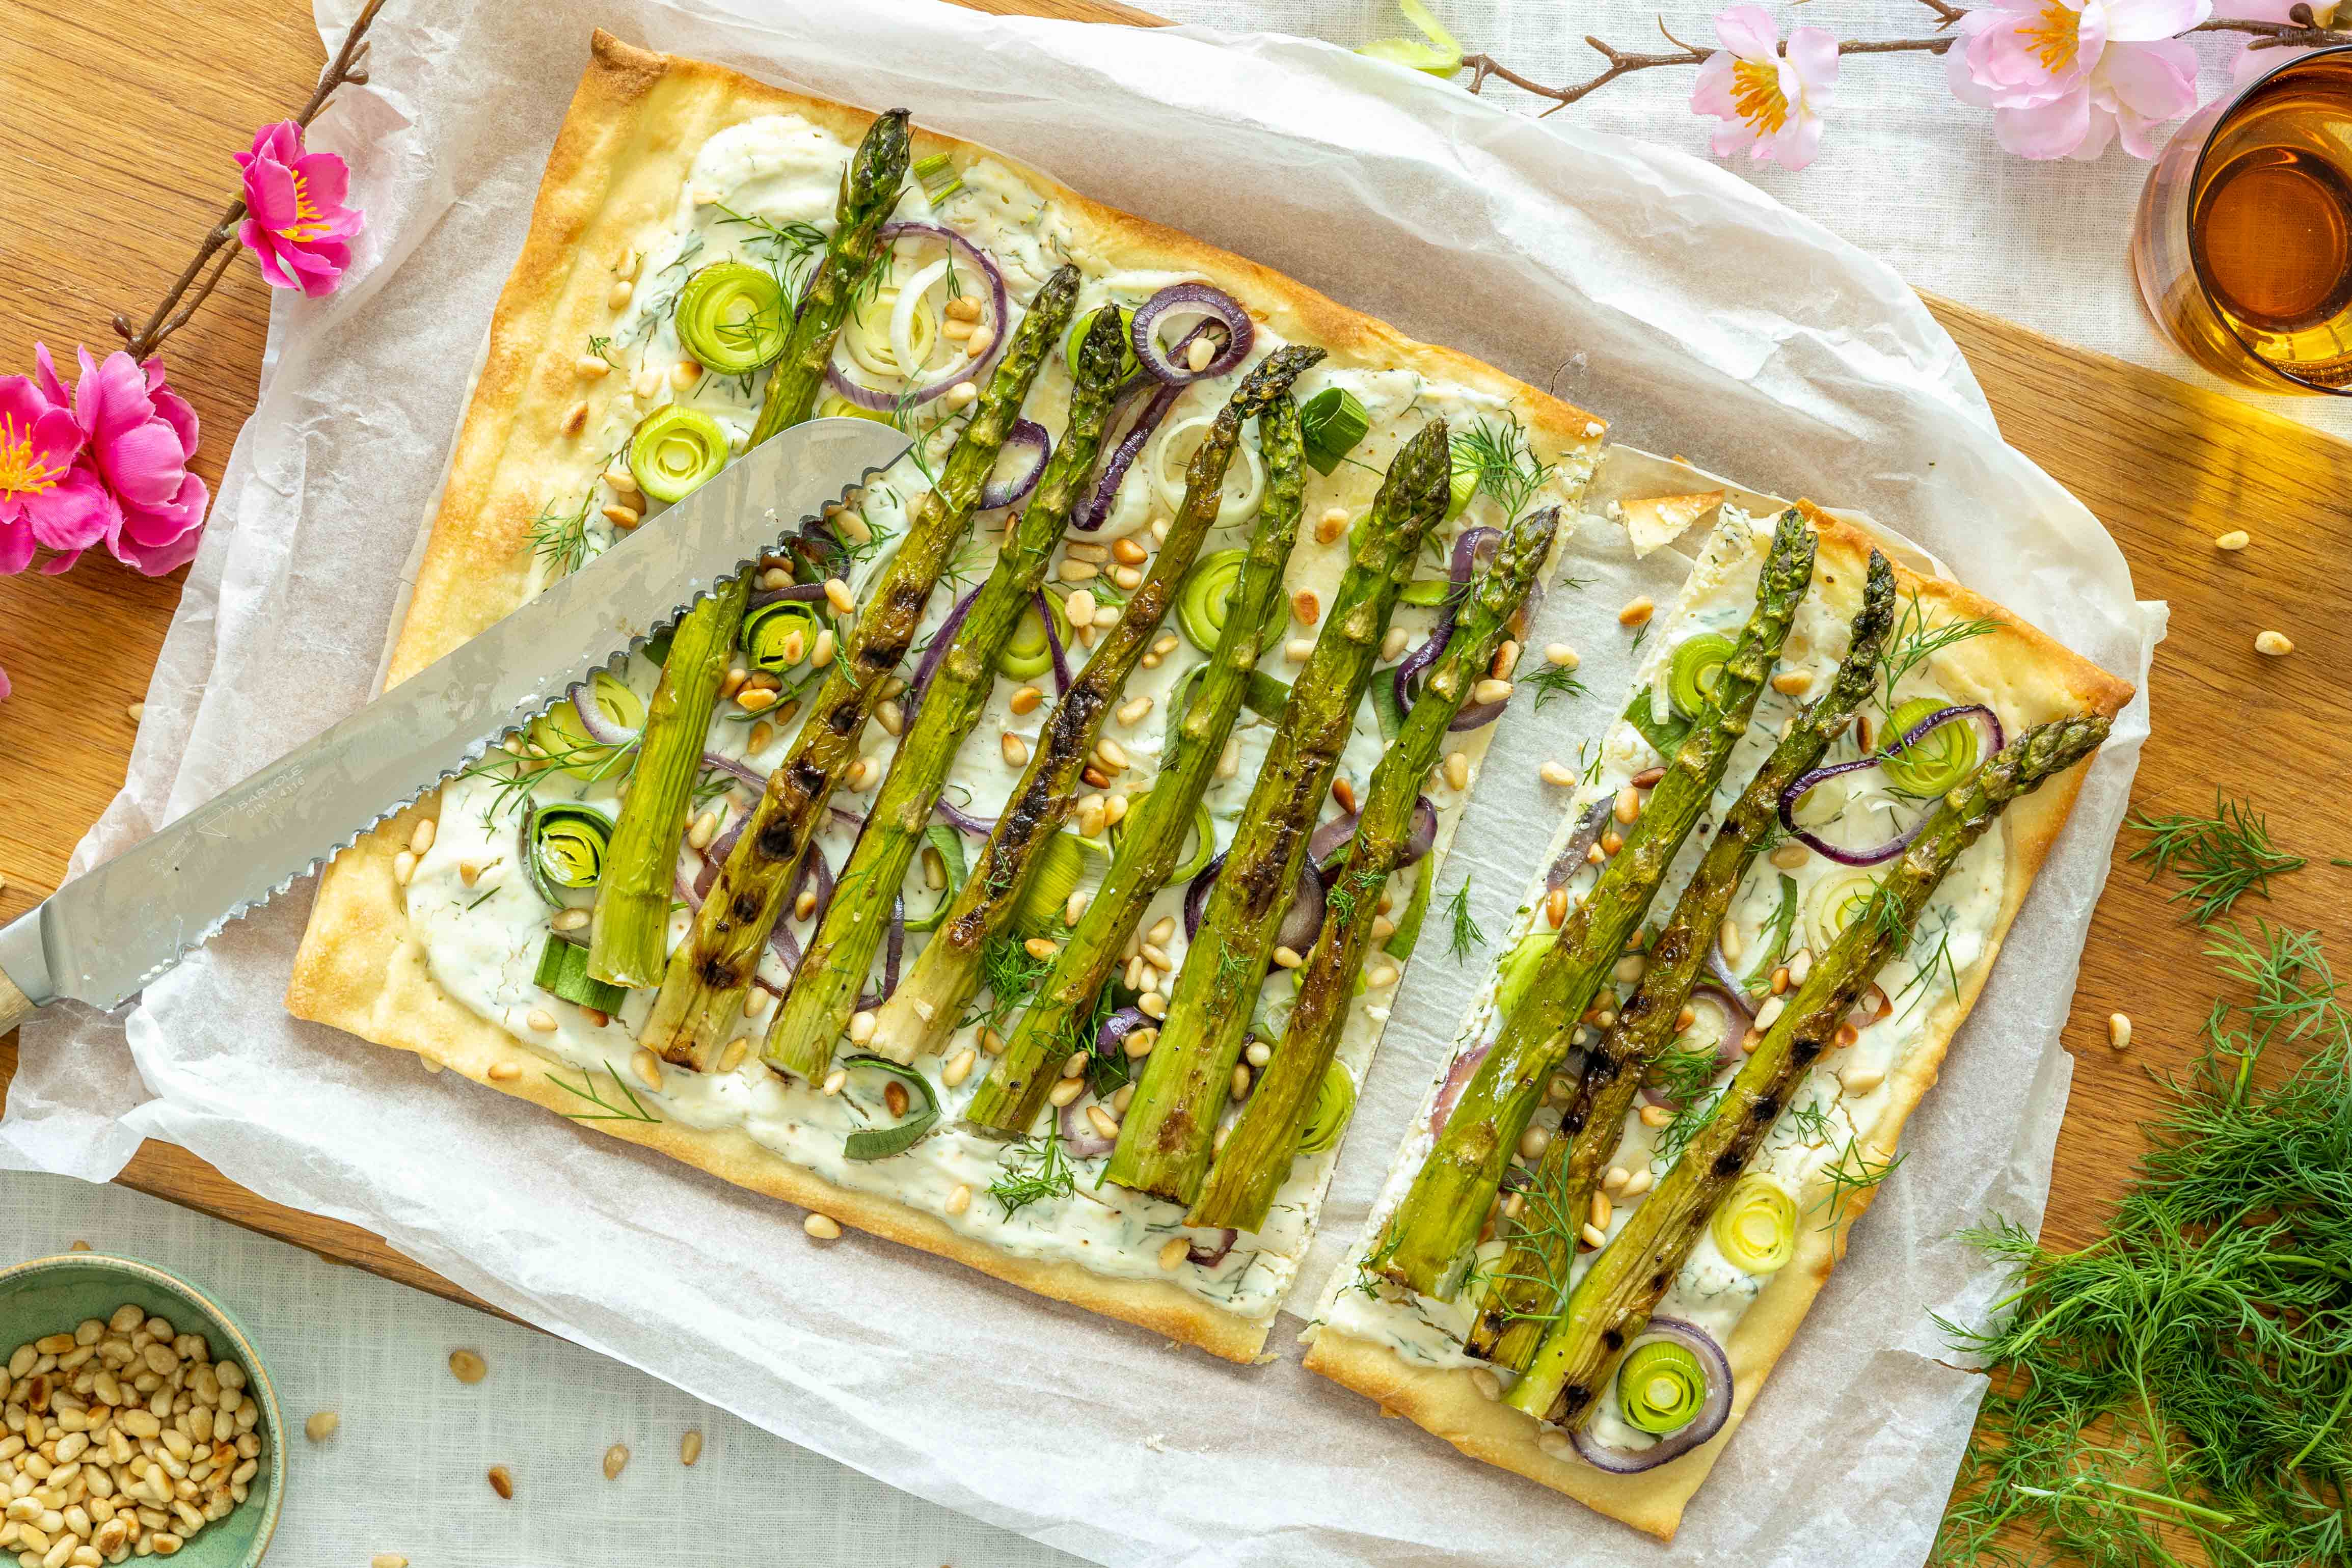
[[[2157,329],[2263,393],[2352,393],[2352,45],[2206,103],[2140,193],[2131,270]]]

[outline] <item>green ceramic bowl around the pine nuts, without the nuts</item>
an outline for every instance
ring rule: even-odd
[[[285,1418],[261,1352],[228,1307],[179,1274],[139,1258],[106,1253],[33,1258],[0,1269],[0,1356],[42,1335],[73,1333],[85,1319],[106,1319],[122,1302],[146,1307],[148,1316],[169,1319],[179,1333],[205,1335],[214,1361],[235,1361],[245,1368],[245,1392],[261,1408],[254,1420],[261,1434],[261,1472],[247,1483],[245,1502],[228,1519],[216,1519],[188,1537],[172,1561],[174,1568],[254,1568],[270,1549],[285,1497]]]

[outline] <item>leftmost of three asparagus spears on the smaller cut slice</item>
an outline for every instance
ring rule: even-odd
[[[1712,799],[1731,750],[1748,733],[1748,715],[1755,712],[1764,677],[1813,581],[1813,545],[1804,517],[1795,508],[1783,512],[1748,630],[1724,663],[1708,705],[1668,759],[1665,778],[1651,790],[1639,820],[1625,830],[1625,846],[1562,922],[1559,940],[1543,954],[1524,999],[1503,1020],[1503,1034],[1437,1133],[1437,1145],[1371,1255],[1371,1267],[1383,1279],[1439,1300],[1451,1300],[1461,1286],[1461,1262],[1486,1222],[1486,1206],[1503,1180],[1503,1166],[1519,1147],[1526,1119],[1543,1100],[1543,1084],[1569,1053],[1578,1020],[1616,969],[1625,940],[1658,893],[1658,879]]]

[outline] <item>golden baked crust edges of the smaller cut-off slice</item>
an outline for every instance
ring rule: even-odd
[[[1853,522],[1832,517],[1806,501],[1797,505],[1820,534],[1820,552],[1813,567],[1816,592],[1851,614],[1860,604],[1863,569],[1875,541],[1867,529]],[[1971,637],[1938,654],[1936,668],[1938,679],[1955,698],[1990,705],[2011,726],[2011,733],[2025,724],[2074,712],[2112,717],[2131,701],[2129,682],[2107,675],[2053,642],[2046,632],[2018,621],[1959,583],[1926,578],[1905,567],[1896,567],[1896,581],[1905,595],[1919,595],[1922,609],[1933,621],[1992,618],[2002,623],[1999,632]],[[2016,919],[2034,875],[2049,858],[2051,844],[2056,844],[2058,830],[2065,825],[2067,811],[2072,811],[2074,797],[2082,792],[2082,780],[2084,769],[2072,769],[2002,813],[2006,882],[2002,907],[1985,943],[1985,961],[1971,966],[1962,994],[1945,997],[1929,1013],[1919,1046],[1896,1067],[1886,1107],[1879,1112],[1875,1126],[1860,1131],[1860,1152],[1870,1164],[1893,1159],[1903,1124],[1919,1107],[1929,1086],[1933,1086],[1955,1030],[1966,1020],[1969,1009],[1976,1006],[1976,997],[1985,987],[1992,964],[1999,959],[2009,924]],[[1724,1354],[1731,1356],[1731,1418],[1715,1439],[1658,1469],[1616,1476],[1573,1455],[1555,1460],[1536,1446],[1541,1427],[1510,1406],[1482,1396],[1470,1368],[1414,1366],[1385,1345],[1374,1345],[1329,1326],[1315,1328],[1305,1366],[1359,1394],[1378,1399],[1381,1408],[1392,1415],[1409,1415],[1416,1425],[1435,1432],[1475,1460],[1512,1469],[1637,1530],[1672,1540],[1684,1505],[1708,1479],[1724,1443],[1738,1432],[1748,1403],[1764,1387],[1764,1378],[1771,1375],[1780,1352],[1788,1349],[1797,1324],[1804,1321],[1820,1286],[1830,1279],[1830,1267],[1844,1255],[1846,1232],[1870,1208],[1875,1192],[1875,1187],[1863,1187],[1851,1194],[1835,1211],[1835,1227],[1799,1232],[1795,1260],[1771,1276],[1724,1345]],[[1799,1204],[1806,1204],[1811,1197],[1818,1194],[1799,1194]]]

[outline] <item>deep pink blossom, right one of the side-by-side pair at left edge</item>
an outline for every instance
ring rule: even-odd
[[[103,362],[78,350],[82,378],[73,386],[73,418],[89,442],[80,465],[103,487],[103,536],[118,562],[162,576],[191,555],[205,529],[212,496],[188,473],[195,456],[195,409],[165,386],[162,357],[139,364],[120,348]],[[35,364],[52,402],[64,402],[49,350]]]

